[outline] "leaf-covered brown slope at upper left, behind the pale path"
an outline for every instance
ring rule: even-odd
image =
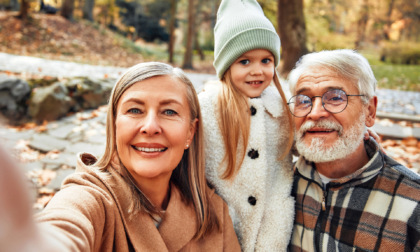
[[[121,67],[144,60],[121,36],[89,22],[41,13],[23,21],[16,15],[0,12],[1,52]]]

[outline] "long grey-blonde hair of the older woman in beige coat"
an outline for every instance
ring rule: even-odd
[[[220,223],[211,204],[209,195],[210,190],[207,189],[207,181],[205,178],[203,128],[201,125],[201,112],[197,94],[193,84],[181,69],[173,68],[168,64],[159,62],[140,63],[128,69],[120,77],[111,92],[108,103],[105,153],[95,165],[101,171],[106,171],[111,165],[114,156],[118,155],[116,148],[115,119],[117,104],[122,94],[134,84],[157,76],[171,76],[185,84],[191,123],[193,123],[195,119],[198,119],[194,138],[190,147],[184,151],[180,163],[172,172],[170,181],[179,188],[183,200],[194,205],[198,221],[198,229],[194,238],[200,239],[215,229],[220,230]],[[160,212],[133,182],[134,180],[124,165],[122,165],[121,161],[120,166],[122,176],[131,186],[133,191],[131,212],[145,211],[151,215],[160,215]]]

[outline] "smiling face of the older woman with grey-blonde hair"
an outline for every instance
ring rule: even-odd
[[[121,162],[138,185],[167,183],[194,136],[186,86],[157,76],[128,88],[117,104],[116,143]]]

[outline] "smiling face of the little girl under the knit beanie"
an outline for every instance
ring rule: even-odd
[[[232,84],[247,97],[259,97],[273,80],[274,67],[270,51],[248,51],[230,66]]]

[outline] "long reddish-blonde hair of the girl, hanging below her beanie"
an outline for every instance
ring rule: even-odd
[[[251,113],[247,97],[245,97],[232,83],[232,73],[230,68],[224,74],[222,83],[222,90],[218,97],[218,111],[220,115],[219,127],[226,149],[223,160],[226,162],[227,166],[221,177],[223,179],[231,179],[237,171],[239,171],[245,158],[250,132]],[[292,148],[294,128],[292,115],[287,109],[286,96],[281,88],[279,74],[276,70],[274,70],[273,83],[280,93],[282,104],[284,106],[283,111],[287,113],[288,128],[286,130],[290,132],[289,139],[287,141],[287,148],[278,157],[278,159],[281,160],[287,156]]]

